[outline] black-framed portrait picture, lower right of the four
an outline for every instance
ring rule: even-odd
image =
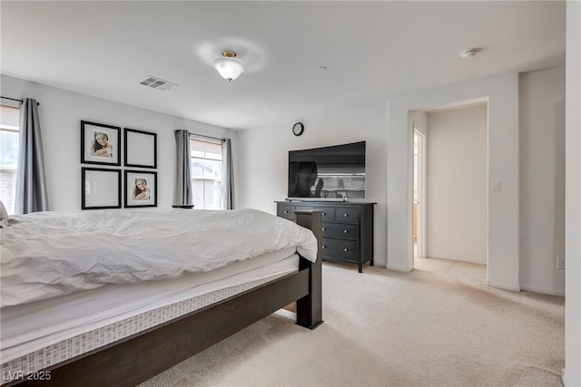
[[[125,170],[125,207],[157,207],[157,172]]]

